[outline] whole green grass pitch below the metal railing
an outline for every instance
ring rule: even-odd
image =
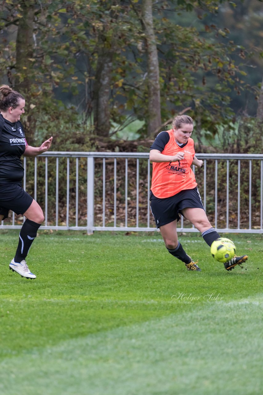
[[[262,235],[225,235],[231,272],[182,235],[189,272],[159,233],[39,234],[27,280],[0,233],[1,395],[262,394]]]

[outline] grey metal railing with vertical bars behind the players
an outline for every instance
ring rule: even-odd
[[[225,233],[263,233],[263,155],[197,156],[204,164],[193,170],[213,226]],[[148,153],[53,151],[23,160],[23,187],[45,215],[41,229],[157,230],[148,198]],[[9,214],[0,229],[20,228],[23,220]],[[197,231],[183,217],[177,228]]]

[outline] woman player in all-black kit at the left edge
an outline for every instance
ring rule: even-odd
[[[26,217],[19,233],[17,252],[9,269],[32,279],[36,276],[28,269],[25,259],[44,215],[39,204],[22,188],[24,168],[20,158],[21,155],[37,156],[46,152],[52,137],[40,147],[27,144],[20,122],[24,106],[25,100],[20,93],[8,85],[0,87],[0,221],[7,218],[9,210]]]

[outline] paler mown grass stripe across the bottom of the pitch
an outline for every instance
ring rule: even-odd
[[[1,394],[259,395],[262,304],[263,295],[202,303],[6,358]]]

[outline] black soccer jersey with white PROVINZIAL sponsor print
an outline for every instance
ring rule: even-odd
[[[22,181],[24,167],[20,158],[26,145],[21,122],[9,122],[0,114],[0,184]]]

